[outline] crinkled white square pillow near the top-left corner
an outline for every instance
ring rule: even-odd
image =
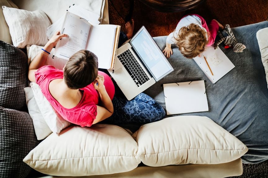
[[[26,11],[2,6],[13,45],[25,48],[26,45],[46,45],[47,27],[51,25],[47,15],[41,11]]]

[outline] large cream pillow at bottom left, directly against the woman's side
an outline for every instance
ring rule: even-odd
[[[114,174],[135,169],[138,145],[125,129],[109,124],[72,125],[52,133],[23,159],[33,169],[55,176]]]

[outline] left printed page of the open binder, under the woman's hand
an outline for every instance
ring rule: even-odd
[[[86,49],[87,40],[92,25],[84,19],[66,11],[61,33],[69,35],[62,38],[56,45],[55,56],[69,59],[74,53]]]

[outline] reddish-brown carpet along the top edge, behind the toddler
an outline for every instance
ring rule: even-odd
[[[264,21],[268,18],[267,0],[206,0],[196,9],[176,13],[161,13],[152,10],[138,0],[108,0],[109,23],[121,25],[124,31],[125,17],[133,3],[132,19],[135,21],[134,33],[142,25],[154,36],[166,36],[175,28],[178,21],[187,14],[201,15],[209,23],[212,19],[218,20],[223,26],[239,27]]]

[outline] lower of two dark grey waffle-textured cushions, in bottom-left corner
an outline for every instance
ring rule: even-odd
[[[0,107],[0,177],[26,177],[31,167],[22,160],[38,143],[27,112]]]

